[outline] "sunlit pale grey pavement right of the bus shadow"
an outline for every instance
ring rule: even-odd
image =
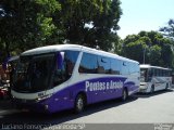
[[[111,105],[112,104],[112,105]],[[138,94],[124,104],[105,103],[108,108],[66,122],[89,123],[174,123],[174,92],[161,91],[153,95]],[[102,105],[96,105],[98,109]]]

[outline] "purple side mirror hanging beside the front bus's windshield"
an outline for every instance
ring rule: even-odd
[[[64,61],[64,52],[59,52],[57,55],[57,67],[58,69],[62,69],[63,68],[63,61]]]

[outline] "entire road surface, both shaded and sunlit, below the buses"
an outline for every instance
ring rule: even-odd
[[[135,127],[134,123],[136,123],[137,130],[141,129],[137,125],[141,126],[141,123],[174,123],[174,91],[160,91],[152,95],[136,94],[125,103],[120,100],[113,100],[94,104],[86,107],[85,112],[79,115],[75,115],[71,110],[53,115],[18,112],[12,109],[10,101],[4,100],[0,101],[0,123],[49,125],[52,127],[61,123],[100,123],[102,128],[107,123],[120,125],[116,128],[123,128],[123,125],[126,127],[127,123],[132,123],[132,127]],[[101,123],[104,125],[101,126]],[[92,126],[90,128],[96,127]],[[125,130],[128,130],[129,126],[126,128]],[[115,126],[111,129],[114,130]],[[154,129],[154,126],[151,126],[151,129]]]

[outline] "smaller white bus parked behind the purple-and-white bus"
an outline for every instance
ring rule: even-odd
[[[159,90],[166,90],[172,86],[172,69],[159,66],[140,65],[140,88],[139,92],[153,93]]]

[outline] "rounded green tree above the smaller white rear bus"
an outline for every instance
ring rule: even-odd
[[[170,39],[157,31],[140,31],[123,40],[122,55],[140,64],[173,67],[173,51]]]

